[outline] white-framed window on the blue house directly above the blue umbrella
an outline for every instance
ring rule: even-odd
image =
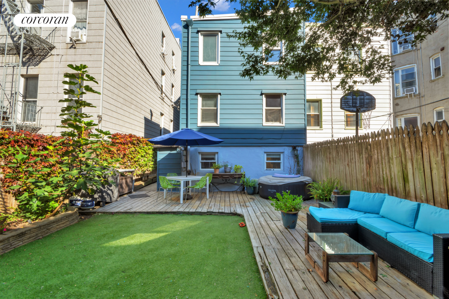
[[[198,94],[198,126],[220,126],[220,94]]]

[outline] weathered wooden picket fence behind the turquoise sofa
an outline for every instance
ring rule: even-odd
[[[399,127],[357,138],[307,144],[304,175],[319,181],[338,178],[345,190],[388,193],[448,208],[448,123]]]

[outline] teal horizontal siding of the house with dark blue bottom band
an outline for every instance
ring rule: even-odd
[[[220,65],[198,65],[198,28],[222,30],[220,34]],[[302,146],[306,143],[305,82],[294,76],[284,80],[266,75],[254,80],[240,77],[242,57],[238,42],[226,33],[243,30],[239,20],[194,21],[191,29],[191,73],[189,128],[224,139],[222,146]],[[183,21],[182,78],[180,128],[186,123],[187,87],[187,25]],[[220,126],[198,127],[197,107],[199,89],[218,89],[220,95]],[[262,126],[263,89],[286,90],[285,126]]]

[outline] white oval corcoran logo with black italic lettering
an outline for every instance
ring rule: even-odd
[[[19,13],[14,17],[18,27],[72,27],[75,23],[71,13]]]

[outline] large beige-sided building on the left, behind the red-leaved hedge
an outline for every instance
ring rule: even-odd
[[[58,134],[63,74],[85,64],[101,95],[84,95],[96,106],[84,109],[101,129],[145,137],[178,130],[181,49],[157,1],[2,2],[3,127]],[[72,13],[77,22],[21,31],[7,13]]]

